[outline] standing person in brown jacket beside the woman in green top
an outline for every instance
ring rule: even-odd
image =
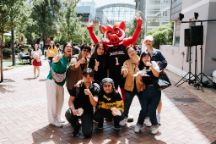
[[[75,84],[82,79],[82,72],[87,68],[90,51],[91,48],[89,46],[82,45],[81,52],[72,56],[71,64],[66,74],[66,86],[70,95]]]

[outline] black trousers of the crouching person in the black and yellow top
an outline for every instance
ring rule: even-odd
[[[113,119],[114,126],[119,126],[119,122],[122,119],[121,116],[113,116],[111,110],[99,109],[95,112],[95,121],[103,124],[104,118]]]

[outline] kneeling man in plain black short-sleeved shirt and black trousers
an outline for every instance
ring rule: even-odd
[[[83,71],[83,79],[72,89],[69,99],[69,109],[65,113],[68,122],[74,128],[73,135],[79,133],[82,126],[84,137],[91,137],[93,130],[93,107],[97,105],[97,94],[100,87],[93,81],[93,70]],[[81,124],[79,123],[81,119]]]

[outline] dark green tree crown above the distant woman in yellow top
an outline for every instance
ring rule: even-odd
[[[32,5],[32,23],[26,28],[25,36],[31,39],[31,42],[33,38],[40,37],[45,43],[48,37],[57,34],[61,1],[33,0]]]

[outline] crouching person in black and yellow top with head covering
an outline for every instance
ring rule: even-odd
[[[114,129],[119,131],[119,122],[122,119],[124,109],[123,100],[115,90],[114,81],[111,78],[104,78],[101,83],[102,88],[98,96],[95,112],[98,129],[103,129],[104,118],[108,118],[114,120]]]

